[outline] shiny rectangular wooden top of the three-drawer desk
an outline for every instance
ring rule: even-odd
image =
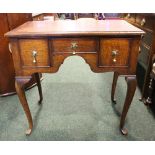
[[[81,20],[29,21],[5,34],[20,36],[84,36],[84,35],[140,35],[144,31],[125,20]]]

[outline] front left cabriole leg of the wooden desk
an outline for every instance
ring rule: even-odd
[[[31,77],[16,77],[16,79],[15,79],[16,91],[17,91],[20,103],[25,111],[25,114],[26,114],[26,117],[28,120],[28,124],[29,124],[29,128],[26,130],[26,135],[30,135],[32,132],[32,128],[33,128],[32,116],[31,116],[31,112],[29,109],[29,105],[27,103],[27,99],[25,96],[25,90],[24,90],[24,84],[29,82],[30,79],[31,79]]]

